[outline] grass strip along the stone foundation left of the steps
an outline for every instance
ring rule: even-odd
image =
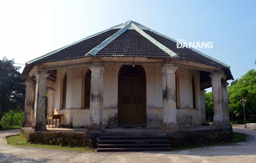
[[[96,151],[96,149],[87,148],[87,147],[69,147],[69,146],[56,146],[56,145],[43,145],[43,144],[30,144],[26,142],[26,139],[21,135],[14,135],[7,137],[7,143],[9,145],[20,145],[20,146],[30,146],[38,148],[47,148],[47,149],[64,149],[68,151]]]

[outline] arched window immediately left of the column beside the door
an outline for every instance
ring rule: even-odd
[[[90,108],[91,74],[92,74],[92,71],[88,69],[88,71],[85,74],[84,83],[83,83],[82,108]]]

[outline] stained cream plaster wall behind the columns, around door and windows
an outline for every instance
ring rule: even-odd
[[[117,125],[118,114],[118,73],[121,64],[105,64],[103,86],[103,123],[107,127]],[[143,65],[146,72],[147,91],[147,126],[162,125],[162,73],[161,65]],[[55,114],[64,114],[62,124],[65,126],[84,127],[90,123],[90,110],[81,109],[83,77],[88,67],[57,70],[55,84]],[[180,106],[177,111],[177,123],[180,127],[201,125],[200,81],[199,71],[178,68],[180,79]],[[67,73],[66,109],[59,110],[60,89],[63,73]],[[197,75],[197,109],[192,102],[192,74]]]

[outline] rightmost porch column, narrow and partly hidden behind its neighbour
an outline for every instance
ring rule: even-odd
[[[230,125],[229,108],[228,108],[228,83],[221,84],[222,90],[222,106],[223,106],[223,123]]]

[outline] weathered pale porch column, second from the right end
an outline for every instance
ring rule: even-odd
[[[223,127],[223,107],[222,107],[222,90],[221,74],[211,73],[211,86],[213,94],[213,125],[217,128]]]

